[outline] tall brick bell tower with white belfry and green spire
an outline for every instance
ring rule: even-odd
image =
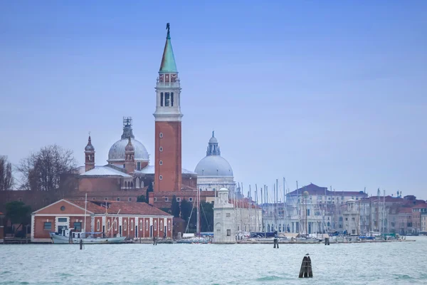
[[[154,192],[181,191],[181,86],[169,23],[156,84]]]

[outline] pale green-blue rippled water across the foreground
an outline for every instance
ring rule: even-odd
[[[378,244],[0,245],[0,284],[427,284],[427,237]],[[298,279],[302,257],[313,279]]]

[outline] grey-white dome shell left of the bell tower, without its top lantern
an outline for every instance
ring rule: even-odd
[[[132,145],[135,149],[135,161],[136,162],[149,162],[149,154],[147,149],[142,145],[141,142],[135,140],[135,138],[130,139]],[[117,140],[111,147],[108,152],[107,162],[124,162],[125,161],[125,150],[126,145],[129,142],[128,138],[122,140]]]

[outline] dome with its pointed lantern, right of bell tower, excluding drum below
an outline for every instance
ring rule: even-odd
[[[221,150],[214,132],[212,132],[212,138],[209,140],[206,157],[200,160],[194,172],[199,176],[233,177],[233,169],[230,163],[221,157]]]

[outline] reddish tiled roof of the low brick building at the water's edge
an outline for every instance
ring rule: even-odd
[[[68,200],[68,199],[67,199]],[[68,200],[73,204],[78,205],[81,208],[85,207],[85,201],[83,200]],[[107,212],[109,214],[138,214],[138,215],[149,215],[149,216],[170,216],[167,212],[163,212],[161,209],[152,207],[147,203],[143,202],[119,202],[119,201],[88,201],[87,209],[95,214],[105,214],[105,203],[107,203]]]

